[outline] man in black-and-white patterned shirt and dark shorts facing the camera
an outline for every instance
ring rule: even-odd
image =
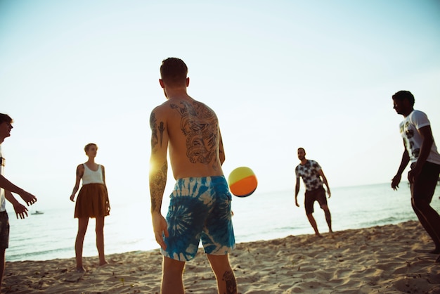
[[[328,198],[330,198],[330,188],[328,186],[327,179],[325,178],[323,169],[318,162],[314,160],[306,159],[306,151],[304,148],[298,148],[298,159],[301,163],[295,168],[295,174],[297,175],[297,184],[295,186],[295,205],[299,207],[298,204],[298,193],[299,193],[299,177],[302,177],[304,186],[306,187],[306,193],[304,196],[304,207],[306,207],[306,215],[309,219],[313,230],[315,230],[315,235],[322,237],[319,234],[318,226],[316,226],[315,218],[313,217],[313,204],[318,201],[321,209],[325,213],[325,221],[328,224],[328,231],[332,233],[332,217],[330,215],[330,210],[327,205],[327,198],[325,198],[325,190],[323,184],[327,187]],[[322,178],[322,179],[321,179]]]

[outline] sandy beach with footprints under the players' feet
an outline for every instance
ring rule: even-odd
[[[440,264],[418,222],[238,243],[231,254],[239,293],[440,293]],[[6,251],[7,254],[7,251]],[[159,250],[75,259],[7,262],[2,293],[159,293]],[[202,250],[187,262],[186,293],[216,293]]]

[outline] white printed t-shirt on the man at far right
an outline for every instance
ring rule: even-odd
[[[420,147],[422,146],[423,139],[418,129],[429,125],[427,115],[420,110],[413,110],[413,112],[400,123],[400,133],[405,141],[406,150],[410,155],[411,162],[417,162],[420,155]],[[440,154],[437,151],[435,142],[432,143],[431,152],[429,153],[427,161],[440,165]]]

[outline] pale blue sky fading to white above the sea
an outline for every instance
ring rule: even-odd
[[[330,187],[388,182],[403,151],[392,94],[412,91],[440,140],[439,52],[434,0],[1,0],[6,176],[65,203],[95,142],[113,202],[149,198],[148,120],[174,56],[219,116],[226,176],[245,165],[257,193],[293,194],[302,146]]]

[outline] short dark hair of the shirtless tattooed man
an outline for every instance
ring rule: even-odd
[[[179,86],[186,84],[186,75],[188,75],[188,67],[183,60],[170,57],[162,60],[160,66],[160,77],[165,84]]]

